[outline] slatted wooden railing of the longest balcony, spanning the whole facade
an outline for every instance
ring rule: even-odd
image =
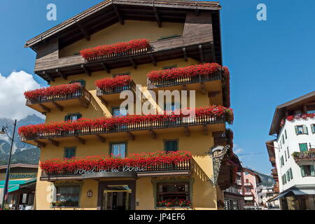
[[[164,118],[162,120],[150,121],[141,120],[137,123],[116,123],[113,127],[83,127],[81,130],[52,130],[52,131],[38,131],[36,135],[25,137],[21,134],[22,141],[38,140],[38,139],[54,139],[62,137],[78,137],[83,135],[91,134],[109,134],[117,132],[133,132],[142,130],[156,130],[156,129],[166,129],[174,127],[188,127],[188,126],[198,126],[198,125],[214,125],[225,123],[225,116],[199,116],[199,117],[187,117],[187,118],[175,118],[170,120],[169,118]]]

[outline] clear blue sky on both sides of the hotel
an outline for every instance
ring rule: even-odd
[[[0,3],[0,73],[34,74],[35,53],[25,41],[100,0],[28,0]],[[265,141],[275,106],[314,91],[315,1],[220,1],[223,63],[231,72],[235,110],[235,151],[244,165],[265,174],[272,168]],[[48,3],[57,5],[57,21],[46,20]],[[265,3],[267,21],[256,19]],[[34,79],[45,85],[41,78]],[[0,90],[1,92],[1,90]]]

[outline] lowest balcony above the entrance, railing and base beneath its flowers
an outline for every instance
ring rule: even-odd
[[[163,163],[162,165],[144,165],[139,163],[137,167],[145,167],[145,171],[130,172],[124,166],[116,167],[112,169],[107,167],[99,169],[94,167],[92,171],[85,174],[82,170],[74,170],[68,172],[62,170],[59,172],[41,173],[41,181],[58,181],[58,180],[83,180],[83,179],[106,179],[106,178],[139,178],[147,176],[189,176],[191,161],[176,162],[174,164]]]

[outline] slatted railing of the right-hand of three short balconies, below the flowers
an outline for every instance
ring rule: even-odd
[[[215,80],[222,79],[223,71],[217,71],[215,73],[211,73],[209,75],[200,75],[200,76],[183,76],[176,79],[156,79],[156,80],[149,80],[148,79],[148,89],[155,89],[159,87],[170,87],[174,85],[186,85],[186,84],[193,84],[193,83],[205,83]]]

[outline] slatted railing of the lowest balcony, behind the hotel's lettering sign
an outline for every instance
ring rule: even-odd
[[[137,167],[145,167],[144,171],[126,171],[125,166],[120,166],[120,167],[115,167],[114,171],[112,167],[102,167],[102,169],[99,169],[99,167],[94,167],[93,172],[89,172],[89,174],[93,173],[133,173],[133,174],[142,174],[141,176],[145,176],[144,174],[152,174],[152,173],[161,173],[161,172],[189,172],[190,171],[190,165],[191,161],[186,160],[186,161],[181,161],[181,162],[176,162],[176,163],[162,163],[159,165],[153,165],[153,164],[139,164]],[[81,172],[80,169],[73,170],[71,172],[67,171],[66,169],[60,170],[59,172],[41,172],[41,180],[47,180],[47,179],[53,179],[55,177],[80,177],[84,174],[84,172]],[[160,174],[159,174],[160,175]]]

